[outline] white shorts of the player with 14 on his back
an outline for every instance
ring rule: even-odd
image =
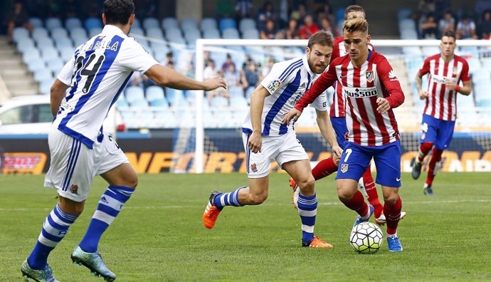
[[[96,175],[129,162],[125,153],[107,133],[93,149],[53,128],[48,135],[51,164],[44,179],[45,187],[58,189],[60,196],[75,202],[87,199]]]

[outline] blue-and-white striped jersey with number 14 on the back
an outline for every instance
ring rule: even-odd
[[[58,74],[58,80],[71,88],[53,126],[92,148],[102,136],[102,122],[133,71],[144,73],[157,64],[134,38],[106,25],[102,33],[75,50]]]

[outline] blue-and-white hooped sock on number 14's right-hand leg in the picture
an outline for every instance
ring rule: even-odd
[[[134,188],[123,186],[110,186],[100,197],[89,228],[80,241],[80,249],[88,253],[95,253],[102,233],[106,231],[112,221],[120,213],[123,204],[130,199]]]

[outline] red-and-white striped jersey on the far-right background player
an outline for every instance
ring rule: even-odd
[[[426,58],[419,70],[421,76],[428,76],[428,93],[423,114],[431,115],[438,120],[455,120],[457,117],[457,91],[445,89],[445,82],[459,84],[460,80],[469,81],[469,65],[464,58],[453,56],[445,63],[440,54]]]

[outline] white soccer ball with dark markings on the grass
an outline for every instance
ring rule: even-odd
[[[379,226],[371,222],[361,222],[352,229],[349,244],[359,254],[375,254],[384,243],[384,235]]]

